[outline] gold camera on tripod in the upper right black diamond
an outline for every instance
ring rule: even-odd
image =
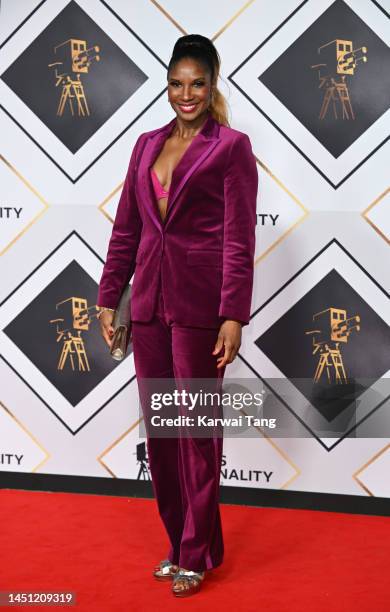
[[[311,68],[318,70],[318,88],[324,89],[319,119],[325,119],[329,107],[335,119],[339,116],[342,119],[355,119],[346,78],[355,74],[359,62],[367,62],[367,47],[354,49],[352,40],[336,38],[318,47],[317,53],[322,62]],[[338,109],[341,109],[339,114]]]

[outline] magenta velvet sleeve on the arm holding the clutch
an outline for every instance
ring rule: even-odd
[[[97,304],[115,309],[126,283],[134,274],[142,229],[135,195],[135,168],[142,134],[133,147],[99,283]]]

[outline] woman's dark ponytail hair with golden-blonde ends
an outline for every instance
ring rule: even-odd
[[[168,75],[173,66],[184,57],[190,57],[203,64],[210,72],[211,85],[214,87],[209,107],[210,113],[218,123],[229,126],[227,101],[217,88],[221,58],[213,42],[201,34],[187,34],[178,38],[168,64]]]

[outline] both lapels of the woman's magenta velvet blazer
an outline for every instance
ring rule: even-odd
[[[211,113],[203,124],[201,131],[193,138],[187,147],[184,155],[172,174],[172,181],[169,188],[167,213],[163,222],[158,210],[158,204],[153,190],[150,167],[153,166],[159,153],[161,152],[166,138],[171,134],[176,125],[176,117],[159,130],[155,131],[147,140],[140,161],[140,180],[143,185],[142,192],[146,196],[145,205],[149,210],[154,223],[162,230],[172,218],[174,204],[184,185],[195,172],[199,165],[210,155],[211,151],[219,142],[219,123]],[[142,170],[141,170],[142,168]]]

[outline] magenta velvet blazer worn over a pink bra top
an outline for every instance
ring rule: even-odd
[[[210,112],[176,166],[165,222],[153,192],[154,164],[176,117],[133,148],[99,284],[97,304],[115,308],[132,281],[131,318],[153,317],[161,273],[165,308],[181,325],[249,323],[258,173],[249,137]]]

